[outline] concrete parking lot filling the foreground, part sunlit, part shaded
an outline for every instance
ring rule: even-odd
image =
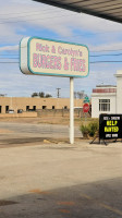
[[[1,123],[0,218],[122,217],[121,142],[44,143],[15,125]]]

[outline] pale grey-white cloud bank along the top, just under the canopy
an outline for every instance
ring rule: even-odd
[[[89,33],[122,31],[121,24],[83,13],[70,12],[32,0],[7,0],[1,4],[1,10],[5,12],[0,14],[0,39],[3,39],[3,41],[17,43],[26,35],[28,27],[47,28],[62,37],[73,36],[74,28]]]

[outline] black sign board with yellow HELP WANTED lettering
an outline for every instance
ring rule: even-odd
[[[122,138],[122,114],[99,116],[99,138]]]

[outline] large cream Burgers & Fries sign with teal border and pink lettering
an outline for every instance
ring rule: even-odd
[[[20,69],[25,74],[85,77],[89,58],[86,46],[42,38],[23,38]]]

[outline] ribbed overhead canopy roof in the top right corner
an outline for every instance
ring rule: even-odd
[[[34,0],[122,23],[122,0]]]

